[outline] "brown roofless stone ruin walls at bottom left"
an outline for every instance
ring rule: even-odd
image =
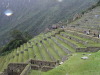
[[[26,75],[30,70],[41,70],[47,72],[55,68],[59,63],[30,59],[27,63],[10,63],[0,75]],[[27,68],[27,66],[29,68]]]

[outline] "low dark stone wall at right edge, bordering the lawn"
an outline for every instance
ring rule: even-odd
[[[100,47],[76,48],[76,52],[97,52]]]

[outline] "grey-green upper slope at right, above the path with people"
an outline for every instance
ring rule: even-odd
[[[82,18],[70,23],[69,26],[100,31],[100,6],[85,13]]]

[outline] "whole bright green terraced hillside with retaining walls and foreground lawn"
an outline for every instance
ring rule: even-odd
[[[82,49],[81,52],[77,51],[79,48]],[[86,75],[86,73],[99,75],[100,52],[97,52],[98,48],[100,49],[100,39],[93,35],[67,28],[57,29],[47,34],[41,33],[11,53],[0,56],[0,72],[6,69],[9,63],[25,63],[29,59],[35,59],[65,62],[51,71],[31,70],[28,75]],[[81,57],[84,56],[88,59],[83,60]]]

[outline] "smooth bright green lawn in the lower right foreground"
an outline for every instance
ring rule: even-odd
[[[82,54],[73,54],[64,64],[42,75],[100,75],[100,52],[85,53],[85,56],[92,54],[88,60],[81,59]]]

